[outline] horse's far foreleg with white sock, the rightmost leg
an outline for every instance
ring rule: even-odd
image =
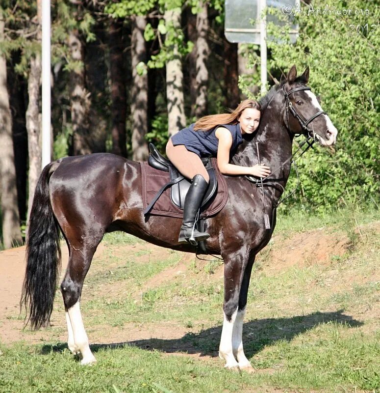
[[[240,288],[239,307],[236,314],[232,332],[232,351],[240,369],[253,371],[250,361],[244,354],[243,349],[243,321],[246,313],[248,287],[250,284],[251,271],[254,257],[250,257],[248,265],[244,271],[243,281]]]

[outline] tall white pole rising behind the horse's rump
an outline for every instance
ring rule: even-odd
[[[42,168],[51,162],[50,0],[42,0]]]

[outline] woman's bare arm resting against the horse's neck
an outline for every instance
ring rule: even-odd
[[[227,128],[218,127],[215,136],[219,140],[218,144],[218,168],[226,175],[253,175],[265,177],[271,173],[269,167],[265,165],[255,165],[253,167],[242,167],[240,165],[229,164],[229,151],[232,146],[232,135]]]

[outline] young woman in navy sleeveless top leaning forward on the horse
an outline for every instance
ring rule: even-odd
[[[166,154],[181,174],[192,180],[185,198],[179,243],[205,240],[208,233],[199,232],[195,218],[208,187],[208,173],[200,157],[217,157],[218,168],[228,175],[265,177],[269,167],[241,167],[229,164],[230,154],[242,143],[244,134],[252,134],[260,121],[260,104],[244,100],[231,113],[212,114],[200,118],[177,134],[166,145]]]

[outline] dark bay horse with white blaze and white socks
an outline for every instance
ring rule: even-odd
[[[226,367],[250,370],[242,342],[248,286],[256,253],[269,242],[276,224],[276,201],[289,172],[295,134],[312,133],[322,145],[335,143],[337,130],[305,86],[308,67],[297,78],[293,66],[285,81],[261,101],[260,126],[253,138],[238,147],[235,162],[257,164],[256,142],[262,163],[272,169],[266,187],[271,230],[265,229],[261,190],[243,176],[226,176],[228,201],[216,216],[205,220],[209,253],[224,259],[224,322],[219,347]],[[51,316],[60,266],[59,233],[68,248],[69,263],[61,283],[69,349],[91,364],[91,353],[79,309],[83,281],[105,232],[122,230],[158,246],[195,252],[177,244],[182,220],[144,217],[140,164],[107,153],[66,157],[47,165],[39,178],[27,240],[27,265],[21,304],[28,307],[32,328],[46,325]]]

